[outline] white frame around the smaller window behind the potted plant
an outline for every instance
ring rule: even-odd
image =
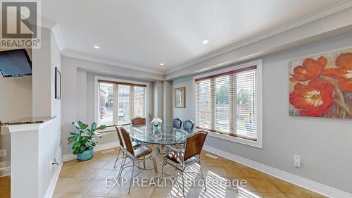
[[[140,81],[134,81],[134,80],[123,80],[119,78],[107,78],[103,76],[94,76],[94,122],[99,124],[99,80],[102,81],[107,81],[107,82],[122,82],[126,84],[131,84],[131,85],[145,85],[146,86],[146,117],[149,115],[149,82],[140,82]],[[121,125],[128,125],[130,123],[124,123]],[[112,126],[108,126],[107,130],[115,130],[115,128]]]

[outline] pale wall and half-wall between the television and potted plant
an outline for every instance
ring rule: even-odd
[[[61,70],[61,54],[51,30],[42,28],[42,48],[32,51],[33,116],[56,116],[46,130],[39,130],[39,197],[44,197],[54,180],[56,168],[50,162],[62,163],[61,100],[55,96],[55,67]]]

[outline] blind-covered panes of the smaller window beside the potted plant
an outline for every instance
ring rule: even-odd
[[[120,125],[146,117],[146,85],[98,80],[99,124]]]

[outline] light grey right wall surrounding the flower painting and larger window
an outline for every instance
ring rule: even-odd
[[[352,34],[263,56],[263,149],[216,137],[207,137],[206,145],[352,193],[352,120],[289,116],[289,60],[341,47],[352,47]],[[186,109],[174,108],[173,117],[195,120],[192,78],[172,82],[172,88],[183,86]],[[294,154],[301,168],[294,167]]]

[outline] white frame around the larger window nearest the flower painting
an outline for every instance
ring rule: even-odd
[[[193,94],[194,94],[194,116],[197,115],[196,113],[196,95],[195,95],[195,90],[196,90],[196,79],[199,78],[206,78],[209,76],[213,75],[219,75],[221,73],[227,73],[233,70],[239,70],[242,68],[249,68],[251,66],[257,66],[256,68],[256,132],[257,132],[257,139],[256,141],[254,140],[249,140],[241,137],[235,137],[233,135],[227,135],[219,132],[213,132],[210,131],[208,133],[209,136],[211,137],[217,137],[222,140],[228,140],[232,142],[237,142],[239,144],[246,144],[252,147],[258,147],[258,148],[263,148],[263,66],[262,66],[262,60],[256,60],[256,61],[251,61],[248,63],[242,63],[236,66],[230,66],[228,68],[223,68],[220,70],[214,70],[212,72],[208,73],[203,73],[201,75],[196,75],[193,77],[192,80],[192,87],[193,87]],[[195,119],[197,120],[197,119]],[[200,129],[201,130],[201,129]]]

